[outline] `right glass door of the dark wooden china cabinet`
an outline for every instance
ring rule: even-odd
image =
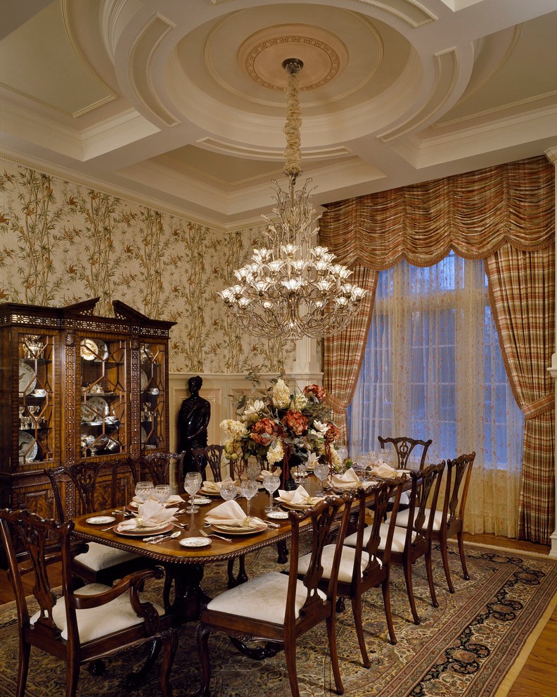
[[[165,448],[165,346],[139,346],[141,450]]]

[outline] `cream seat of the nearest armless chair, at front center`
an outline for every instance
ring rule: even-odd
[[[317,592],[325,601],[326,594],[319,589]],[[273,571],[224,591],[208,603],[207,610],[283,624],[287,593],[288,576]],[[306,597],[307,589],[299,581],[296,590],[295,617],[300,617],[300,608],[304,605]]]

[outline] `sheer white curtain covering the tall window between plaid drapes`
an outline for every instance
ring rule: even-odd
[[[380,272],[350,453],[378,436],[433,439],[428,461],[476,452],[468,532],[516,536],[523,413],[506,379],[482,260]]]

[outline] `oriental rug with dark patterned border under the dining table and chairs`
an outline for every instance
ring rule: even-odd
[[[380,589],[364,596],[363,615],[371,668],[361,655],[350,605],[338,615],[338,651],[346,697],[501,697],[504,679],[555,606],[557,563],[547,557],[466,544],[470,581],[461,576],[456,546],[450,548],[456,592],[449,594],[440,553],[434,553],[439,607],[433,608],[423,559],[414,566],[414,591],[419,626],[411,622],[402,570],[392,572],[392,610],[398,643],[388,643]],[[280,569],[276,549],[269,547],[246,558],[248,574]],[[226,587],[225,565],[207,567],[203,588],[215,595]],[[148,593],[157,598],[160,587]],[[0,608],[0,696],[15,695],[17,624],[13,603]],[[215,697],[283,697],[290,695],[283,653],[263,662],[239,654],[226,636],[210,636],[212,695]],[[155,697],[160,694],[158,666],[136,691],[122,689],[134,664],[141,665],[143,648],[106,660],[106,672],[94,677],[82,669],[79,697]],[[334,686],[326,651],[324,627],[302,636],[297,644],[298,682],[302,697],[331,694]],[[199,684],[195,623],[181,632],[172,670],[174,696],[191,696]],[[334,692],[333,692],[334,693]],[[64,665],[37,649],[31,651],[27,697],[65,694]]]

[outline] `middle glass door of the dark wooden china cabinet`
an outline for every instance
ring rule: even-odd
[[[126,348],[122,339],[81,339],[82,458],[127,452]]]

